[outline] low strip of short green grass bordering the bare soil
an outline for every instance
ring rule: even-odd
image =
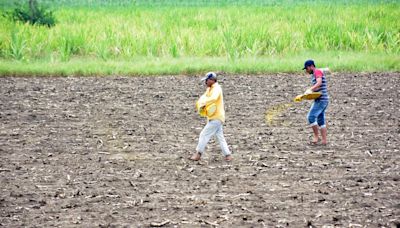
[[[333,72],[399,72],[400,56],[385,53],[306,53],[293,56],[134,58],[103,61],[72,58],[69,61],[6,60],[0,62],[0,76],[150,76],[193,75],[205,71],[228,74],[268,74],[301,72],[303,62],[314,59],[317,67]]]

